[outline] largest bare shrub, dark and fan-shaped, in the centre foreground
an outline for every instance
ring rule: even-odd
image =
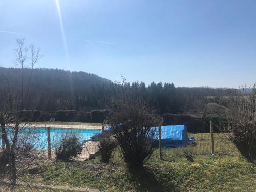
[[[129,94],[109,105],[107,118],[125,163],[142,167],[153,152],[156,130],[151,127],[161,124],[162,119],[143,100]]]

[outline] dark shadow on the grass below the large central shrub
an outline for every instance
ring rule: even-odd
[[[175,185],[164,184],[160,182],[153,171],[148,168],[134,169],[129,168],[129,173],[131,174],[136,191],[140,192],[171,192],[180,191]],[[161,179],[161,178],[159,178]]]

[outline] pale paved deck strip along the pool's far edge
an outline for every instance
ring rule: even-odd
[[[51,127],[51,128],[73,128],[73,129],[102,129],[102,126],[95,125],[62,125],[62,124],[20,124],[24,127]]]

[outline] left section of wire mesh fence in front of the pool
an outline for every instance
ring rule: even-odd
[[[12,142],[14,130],[7,129],[9,140]],[[86,128],[56,128],[56,127],[23,127],[19,130],[18,146],[31,146],[36,152],[44,157],[56,157],[56,147],[62,142],[63,138],[68,135],[75,135],[82,145],[81,153],[78,160],[93,158],[98,151],[98,142],[94,139],[96,134],[101,133],[102,129]],[[0,137],[0,149],[5,145]],[[0,151],[0,152],[1,152]]]

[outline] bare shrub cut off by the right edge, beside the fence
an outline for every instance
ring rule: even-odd
[[[228,110],[228,123],[224,127],[227,136],[248,157],[256,153],[256,89],[255,84],[250,93],[245,87],[232,98]]]

